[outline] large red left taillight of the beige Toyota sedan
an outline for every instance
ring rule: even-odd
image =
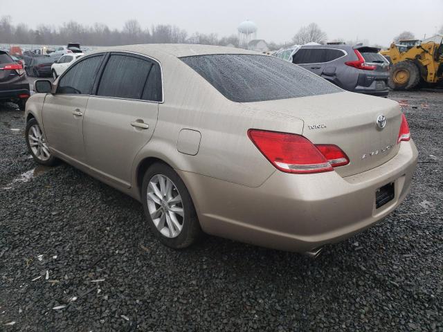
[[[349,163],[347,156],[339,147],[317,146],[301,135],[249,129],[248,137],[266,159],[282,172],[296,174],[331,172],[334,170],[334,165]]]

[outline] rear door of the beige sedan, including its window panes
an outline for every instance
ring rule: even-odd
[[[154,133],[161,84],[158,62],[111,53],[89,98],[83,124],[87,163],[116,185],[130,187],[132,163]]]

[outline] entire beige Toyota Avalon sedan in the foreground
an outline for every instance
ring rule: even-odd
[[[206,232],[316,256],[395,210],[417,163],[397,102],[248,50],[119,46],[35,90],[35,161],[138,199],[172,248]]]

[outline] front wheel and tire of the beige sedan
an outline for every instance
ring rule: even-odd
[[[57,163],[57,158],[55,158],[51,154],[51,151],[49,151],[46,137],[35,118],[30,119],[26,123],[25,136],[28,151],[31,156],[33,156],[36,163],[45,166],[53,166]]]

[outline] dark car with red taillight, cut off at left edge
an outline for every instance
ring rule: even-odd
[[[23,66],[0,50],[0,101],[16,102],[20,109],[24,109],[29,95],[29,83]]]

